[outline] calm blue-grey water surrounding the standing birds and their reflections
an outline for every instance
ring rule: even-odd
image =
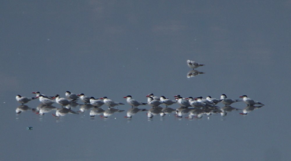
[[[2,1],[0,13],[0,160],[291,158],[290,0]],[[187,59],[205,74],[187,78]],[[15,114],[17,94],[67,90],[123,103],[246,94],[265,106],[193,121]]]

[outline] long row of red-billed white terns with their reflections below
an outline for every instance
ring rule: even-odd
[[[84,102],[85,105],[92,105],[95,107],[94,110],[91,110],[90,112],[91,117],[95,115],[100,115],[101,113],[104,114],[104,117],[108,117],[115,112],[124,111],[124,110],[112,108],[118,105],[124,105],[124,103],[115,102],[107,98],[106,96],[95,99],[94,97],[85,96],[83,93],[74,94],[69,91],[66,91],[65,92],[66,98],[60,98],[58,94],[56,94],[55,96],[46,96],[46,95],[40,94],[40,92],[33,92],[33,93],[36,94],[36,97],[28,98],[28,97],[22,97],[20,95],[17,95],[16,100],[22,105],[37,98],[39,98],[39,101],[41,102],[41,104],[45,106],[51,106],[53,103],[57,103],[61,105],[62,108],[57,110],[59,114],[57,114],[56,112],[56,116],[62,116],[61,113],[76,113],[70,110],[70,105],[72,103],[76,103],[76,101],[78,101],[79,99],[82,102]],[[246,103],[247,106],[264,105],[258,101],[254,101],[253,99],[247,97],[246,95],[240,96],[242,100],[227,98],[225,94],[222,94],[220,99],[212,98],[211,96],[207,96],[206,99],[203,99],[203,97],[201,96],[196,97],[196,98],[193,98],[193,97],[183,98],[180,95],[176,95],[174,96],[175,100],[171,100],[171,99],[166,98],[165,96],[161,96],[161,97],[154,96],[154,94],[152,93],[148,94],[146,97],[148,97],[147,103],[139,102],[133,99],[131,95],[127,95],[123,97],[123,98],[126,98],[126,102],[130,106],[132,106],[132,108],[127,111],[126,117],[131,118],[134,114],[140,111],[148,111],[147,115],[149,118],[152,118],[154,115],[164,116],[165,114],[169,114],[176,111],[176,115],[178,117],[182,117],[183,114],[189,113],[189,118],[190,118],[190,116],[191,117],[200,116],[201,114],[207,114],[207,113],[209,114],[210,112],[215,113],[215,110],[217,113],[224,112],[226,111],[226,109],[229,110],[233,108],[230,106],[231,104],[235,102],[239,102],[239,101],[244,101],[244,103]],[[216,106],[219,102],[223,103],[225,107],[220,108]],[[180,106],[179,108],[173,109],[173,108],[168,107],[176,103]],[[103,110],[100,108],[104,104],[109,107],[108,110]],[[152,108],[150,109],[137,108],[140,105],[149,105]],[[166,107],[162,108],[160,107],[160,105],[165,105]],[[246,114],[246,113],[241,113],[241,114]]]

